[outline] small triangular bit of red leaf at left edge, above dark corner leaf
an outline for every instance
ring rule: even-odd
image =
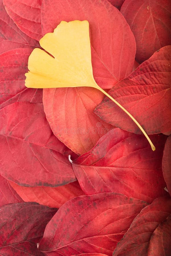
[[[6,179],[0,176],[0,207],[2,205],[23,202]]]

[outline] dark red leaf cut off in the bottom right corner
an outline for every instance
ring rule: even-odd
[[[171,214],[158,225],[150,238],[148,255],[166,255],[169,256],[171,251]]]

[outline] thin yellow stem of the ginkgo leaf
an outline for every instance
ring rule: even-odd
[[[125,113],[127,113],[127,115],[129,115],[129,117],[131,117],[131,119],[136,123],[136,125],[140,128],[140,130],[142,131],[142,133],[144,134],[144,136],[146,137],[146,139],[148,140],[148,142],[150,143],[150,146],[152,148],[152,150],[154,151],[156,148],[155,146],[152,144],[152,141],[150,140],[150,138],[148,137],[148,135],[146,134],[146,132],[144,131],[143,127],[137,122],[137,120],[121,105],[119,104],[114,98],[112,98],[107,92],[105,92],[101,87],[98,86],[97,88],[98,90],[100,90],[101,92],[103,92],[103,94],[105,94],[109,99],[111,99],[113,102],[115,102],[115,104],[117,104],[117,106],[119,106]]]

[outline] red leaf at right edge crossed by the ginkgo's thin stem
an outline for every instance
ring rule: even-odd
[[[143,126],[148,134],[171,130],[171,46],[161,48],[109,94]],[[95,109],[103,120],[121,129],[141,133],[138,126],[114,102],[105,97]]]

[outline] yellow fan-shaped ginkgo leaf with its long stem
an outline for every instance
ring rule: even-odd
[[[40,46],[28,58],[28,73],[25,86],[31,88],[57,88],[89,86],[103,92],[115,102],[141,129],[152,150],[150,138],[135,118],[99,87],[94,78],[91,65],[89,23],[87,20],[62,21],[53,33],[40,39]]]

